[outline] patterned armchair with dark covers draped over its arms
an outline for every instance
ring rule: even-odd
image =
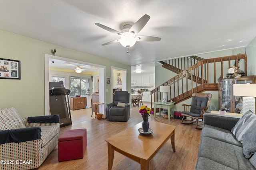
[[[0,110],[0,169],[38,168],[58,144],[59,122],[59,115],[22,119],[14,107]]]

